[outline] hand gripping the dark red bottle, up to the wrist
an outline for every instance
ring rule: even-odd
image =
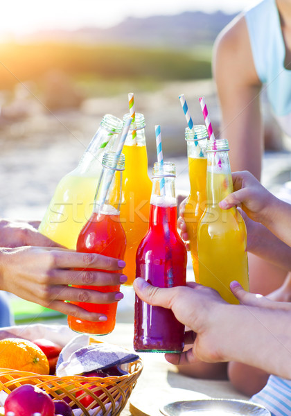
[[[191,349],[181,354],[166,354],[166,360],[173,364],[189,364],[198,361],[215,363],[224,360],[219,343],[221,322],[216,319],[221,306],[228,306],[218,292],[195,282],[187,286],[157,288],[144,279],[134,280],[134,291],[144,302],[152,306],[172,309],[175,317],[192,331],[185,333],[185,344]],[[227,322],[227,318],[225,318]]]

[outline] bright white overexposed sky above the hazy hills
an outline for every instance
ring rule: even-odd
[[[185,11],[243,10],[254,0],[3,0],[0,35],[21,35],[41,29],[73,30],[108,27],[129,16],[175,15]]]

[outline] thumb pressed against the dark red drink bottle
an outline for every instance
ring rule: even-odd
[[[136,277],[133,286],[136,295],[144,302],[152,306],[162,306],[163,308],[170,309],[167,288],[152,286],[141,277]]]

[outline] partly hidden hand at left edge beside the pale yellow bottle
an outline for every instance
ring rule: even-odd
[[[0,220],[0,247],[16,248],[25,245],[62,247],[37,231],[39,221]]]

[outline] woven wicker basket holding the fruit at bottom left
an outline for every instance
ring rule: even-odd
[[[97,416],[99,412],[103,416],[117,416],[125,407],[142,369],[141,359],[128,364],[129,374],[104,378],[42,376],[0,368],[0,391],[9,394],[21,384],[33,384],[45,390],[53,399],[67,401],[72,409],[81,409],[82,412],[78,413],[80,416]],[[76,397],[76,392],[80,390],[83,390],[82,395]],[[93,399],[87,408],[80,403],[86,395]]]

